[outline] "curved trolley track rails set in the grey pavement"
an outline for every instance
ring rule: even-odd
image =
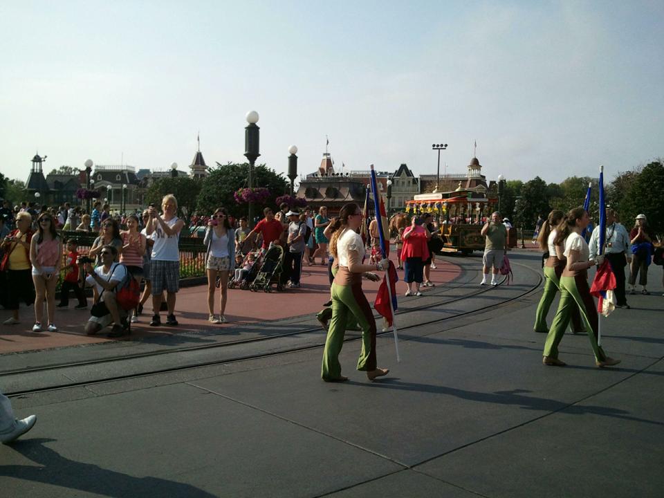
[[[476,260],[474,261],[476,262]],[[524,268],[524,270],[528,270],[529,272],[533,273],[535,275],[535,283],[528,285],[526,288],[523,289],[523,291],[517,293],[517,295],[513,295],[512,297],[508,297],[506,299],[501,299],[499,302],[493,303],[493,304],[488,304],[486,306],[480,306],[478,308],[472,308],[468,311],[460,311],[458,313],[452,313],[448,316],[445,317],[439,317],[436,318],[435,320],[424,320],[424,321],[418,321],[413,324],[408,324],[405,326],[399,326],[398,331],[408,331],[412,329],[417,329],[418,327],[422,326],[427,326],[427,325],[432,325],[432,324],[438,324],[438,323],[443,323],[443,322],[448,322],[450,320],[457,319],[459,317],[463,317],[466,315],[472,315],[476,313],[482,313],[484,311],[489,311],[492,308],[497,308],[499,306],[504,306],[506,304],[509,304],[511,302],[515,302],[517,299],[521,299],[522,297],[525,297],[526,295],[529,295],[537,290],[537,288],[540,287],[540,284],[542,282],[542,276],[535,272],[532,268],[528,268],[528,266],[515,263],[513,262],[513,266],[519,266],[520,268]],[[471,281],[472,282],[472,279]],[[443,288],[442,286],[439,287],[441,289],[441,292],[436,293],[436,292],[430,292],[426,293],[422,297],[418,299],[424,299],[424,298],[431,298],[431,297],[448,297],[446,294],[450,293],[450,291],[455,291],[459,288],[463,288],[465,286],[468,286],[469,284],[472,285],[470,282],[463,282],[463,284],[459,284],[457,286],[445,286]],[[500,284],[502,285],[502,283]],[[454,302],[459,302],[462,301],[463,299],[471,298],[471,297],[477,297],[480,295],[483,295],[484,293],[488,293],[489,291],[492,291],[494,289],[493,286],[486,286],[486,287],[481,287],[477,290],[474,290],[470,293],[463,293],[462,295],[459,296],[454,296],[451,299],[447,300],[441,300],[441,301],[436,301],[430,304],[423,304],[421,306],[414,306],[414,307],[409,307],[402,309],[400,311],[397,311],[395,315],[410,315],[413,313],[418,313],[426,310],[430,310],[432,308],[438,308],[440,306],[445,306],[448,304],[452,304]],[[377,315],[380,317],[380,315]],[[216,342],[214,344],[203,344],[203,345],[197,345],[197,346],[191,346],[191,347],[180,347],[180,348],[174,348],[174,349],[163,349],[159,351],[148,351],[148,352],[143,352],[143,353],[133,353],[125,356],[117,356],[113,358],[98,358],[94,360],[84,360],[80,362],[68,362],[68,363],[61,363],[61,364],[54,364],[54,365],[45,365],[41,367],[32,367],[32,368],[26,368],[26,369],[15,369],[15,370],[7,370],[7,371],[2,371],[0,374],[2,376],[21,376],[21,375],[27,375],[27,374],[48,374],[49,372],[55,372],[55,371],[64,371],[66,369],[75,369],[75,368],[84,368],[84,367],[94,367],[95,365],[110,365],[113,363],[119,363],[119,362],[131,362],[132,360],[141,360],[141,359],[146,359],[146,358],[154,358],[158,356],[166,356],[166,355],[178,355],[178,353],[195,353],[195,352],[200,352],[200,351],[209,351],[209,350],[230,350],[232,347],[241,347],[241,346],[246,346],[249,344],[254,344],[254,343],[259,343],[259,342],[268,342],[268,341],[275,341],[278,339],[283,339],[283,338],[291,338],[297,335],[306,335],[307,333],[312,333],[312,332],[319,332],[320,333],[321,328],[320,326],[315,326],[310,329],[300,329],[297,331],[290,331],[286,333],[277,333],[273,335],[268,335],[268,336],[263,336],[263,337],[258,337],[258,338],[246,338],[246,339],[241,339],[241,340],[230,340],[230,341],[224,341],[224,342]],[[391,330],[389,331],[379,331],[377,333],[378,336],[386,335],[386,334],[391,334]],[[353,342],[359,340],[358,335],[351,335],[347,338],[344,339],[344,342]],[[167,374],[167,373],[172,373],[176,371],[184,371],[187,369],[197,369],[197,368],[203,368],[203,367],[210,367],[214,365],[222,365],[222,364],[230,364],[234,362],[242,362],[246,360],[255,360],[259,358],[266,358],[270,356],[278,356],[282,354],[287,354],[287,353],[294,353],[294,352],[299,352],[299,351],[306,351],[310,349],[319,349],[324,346],[324,341],[316,344],[300,344],[296,345],[293,347],[285,347],[283,349],[279,349],[277,351],[268,351],[268,352],[263,352],[263,353],[250,353],[250,354],[239,354],[237,356],[232,356],[231,358],[222,358],[218,360],[207,360],[207,361],[199,361],[199,362],[193,362],[192,364],[185,364],[185,365],[176,365],[176,366],[170,366],[170,367],[163,367],[163,368],[158,368],[158,369],[149,369],[149,371],[142,371],[140,373],[128,373],[128,374],[120,374],[120,375],[114,375],[114,376],[103,376],[103,378],[97,378],[97,379],[86,379],[86,380],[80,380],[80,381],[68,381],[68,382],[62,382],[57,385],[48,385],[47,387],[36,387],[33,389],[21,389],[17,391],[7,391],[5,394],[7,396],[26,396],[29,394],[38,394],[41,392],[46,392],[46,391],[55,391],[59,389],[68,389],[71,387],[81,387],[85,385],[96,385],[96,384],[102,384],[106,382],[114,382],[118,380],[127,380],[131,378],[139,378],[139,377],[145,377],[145,376],[152,376],[156,374]]]

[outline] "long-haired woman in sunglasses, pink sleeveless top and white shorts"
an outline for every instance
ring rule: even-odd
[[[42,331],[44,300],[48,316],[48,331],[57,332],[55,326],[55,284],[62,264],[62,239],[55,231],[53,216],[42,213],[37,220],[37,235],[30,241],[30,261],[33,263],[35,284],[35,324],[33,332]]]

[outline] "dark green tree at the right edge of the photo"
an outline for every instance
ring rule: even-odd
[[[637,214],[647,216],[648,224],[658,234],[664,233],[664,165],[661,159],[649,163],[629,186],[620,201],[620,220],[629,230]]]

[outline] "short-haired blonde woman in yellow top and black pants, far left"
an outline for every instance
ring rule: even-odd
[[[19,323],[19,303],[33,304],[35,302],[35,288],[30,276],[30,243],[33,239],[33,216],[27,211],[16,215],[16,228],[2,241],[0,248],[5,251],[2,259],[2,270],[7,271],[6,308],[12,311],[12,316],[3,322],[4,325]]]

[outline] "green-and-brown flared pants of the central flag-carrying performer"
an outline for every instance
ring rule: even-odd
[[[362,351],[358,370],[376,370],[376,320],[371,306],[362,292],[362,284],[340,286],[332,284],[332,320],[327,331],[321,378],[336,380],[341,377],[339,354],[344,344],[348,315],[353,314],[362,329]]]

